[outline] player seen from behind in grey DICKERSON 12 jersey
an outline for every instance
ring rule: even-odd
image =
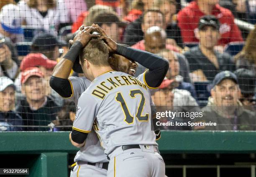
[[[147,82],[112,71],[108,51],[122,53],[126,48],[98,29],[103,34],[100,39],[105,40],[109,50],[102,40],[93,38],[79,56],[84,75],[92,83],[78,100],[69,138],[74,146],[83,147],[95,124],[95,131],[110,160],[107,177],[163,177],[163,159],[154,151],[157,144],[151,130],[151,96]],[[163,64],[163,71],[167,71],[168,62],[158,59]]]

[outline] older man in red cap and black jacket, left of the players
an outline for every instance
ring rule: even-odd
[[[56,119],[60,107],[46,95],[44,74],[37,67],[21,73],[21,91],[26,98],[20,100],[16,111],[23,119],[26,131],[46,131],[47,125]]]

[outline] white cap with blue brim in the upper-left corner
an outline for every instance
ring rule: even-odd
[[[3,6],[0,13],[0,23],[6,32],[23,34],[23,29],[20,25],[20,18],[17,18],[17,14],[20,14],[17,5],[8,4]]]

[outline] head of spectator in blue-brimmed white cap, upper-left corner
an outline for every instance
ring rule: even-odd
[[[15,4],[3,6],[0,11],[0,37],[8,37],[13,43],[24,40],[19,9]]]

